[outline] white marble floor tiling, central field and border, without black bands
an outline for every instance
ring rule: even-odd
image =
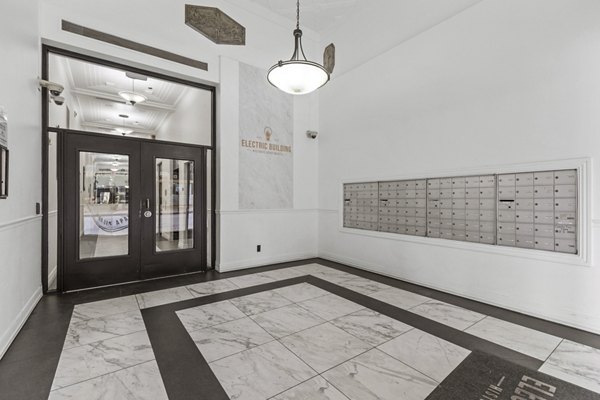
[[[140,309],[309,274],[538,358],[541,372],[600,393],[598,349],[307,264],[75,306],[49,399],[167,399]],[[177,315],[232,399],[425,399],[469,354],[307,283]]]

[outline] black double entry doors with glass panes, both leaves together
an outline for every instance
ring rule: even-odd
[[[63,290],[206,269],[206,153],[61,135]]]

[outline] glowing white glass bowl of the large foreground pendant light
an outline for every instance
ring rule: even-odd
[[[329,73],[321,65],[303,60],[279,62],[267,74],[269,83],[290,94],[314,92],[329,81]]]

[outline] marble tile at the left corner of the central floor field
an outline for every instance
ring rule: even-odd
[[[219,325],[246,316],[246,314],[241,312],[228,300],[187,308],[176,313],[188,332]]]

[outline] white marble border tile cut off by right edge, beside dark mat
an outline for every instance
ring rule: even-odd
[[[540,372],[600,393],[600,349],[563,340]]]

